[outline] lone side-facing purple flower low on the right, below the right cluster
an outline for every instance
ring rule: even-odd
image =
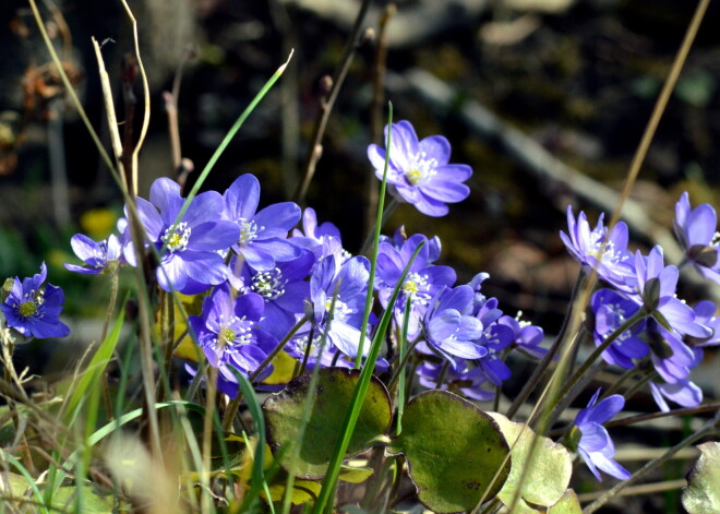
[[[602,426],[623,409],[625,398],[613,394],[596,405],[599,396],[600,390],[596,391],[587,408],[581,409],[575,418],[575,426],[580,432],[577,453],[598,480],[602,481],[598,469],[621,480],[626,480],[631,474],[613,461],[615,446],[608,430]]]

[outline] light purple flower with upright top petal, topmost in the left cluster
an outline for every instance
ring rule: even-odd
[[[233,250],[259,272],[268,272],[275,263],[300,256],[300,249],[287,240],[290,229],[300,220],[300,207],[292,202],[268,205],[260,212],[260,182],[241,175],[224,195],[225,218],[237,224],[240,235]]]

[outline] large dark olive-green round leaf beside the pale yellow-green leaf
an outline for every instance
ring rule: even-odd
[[[418,498],[437,513],[469,511],[492,499],[511,468],[493,419],[446,391],[425,391],[408,403],[388,453],[405,455]]]

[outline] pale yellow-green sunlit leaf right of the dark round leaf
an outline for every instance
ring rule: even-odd
[[[538,512],[535,506],[548,507],[557,503],[565,494],[573,474],[573,461],[565,446],[540,437],[536,443],[532,459],[528,463],[535,432],[524,423],[508,420],[502,414],[488,414],[500,426],[513,455],[513,467],[497,498],[505,505],[509,506],[513,503],[517,485],[529,464],[530,468],[526,473],[523,491],[515,505],[517,512]],[[515,443],[516,440],[517,443]]]

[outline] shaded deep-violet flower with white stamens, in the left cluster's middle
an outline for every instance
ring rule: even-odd
[[[256,292],[263,298],[265,316],[261,327],[281,339],[304,312],[304,302],[310,299],[310,284],[305,278],[314,264],[315,255],[304,249],[297,259],[278,261],[266,272],[253,270],[247,262],[240,267],[239,260],[233,258],[230,270],[236,277],[231,284],[238,290]]]

